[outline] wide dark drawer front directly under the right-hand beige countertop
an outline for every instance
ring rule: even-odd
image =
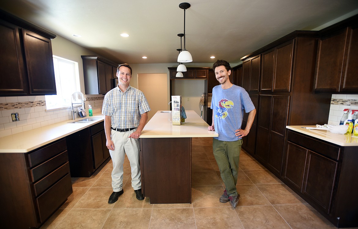
[[[326,157],[338,160],[340,155],[340,147],[325,143],[318,139],[310,138],[305,135],[288,131],[287,140],[297,143],[314,152],[323,154]]]

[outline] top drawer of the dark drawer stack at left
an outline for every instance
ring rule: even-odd
[[[38,164],[46,161],[58,153],[65,151],[66,149],[66,139],[59,140],[58,142],[50,144],[42,149],[29,153],[29,165],[30,167],[37,166]]]

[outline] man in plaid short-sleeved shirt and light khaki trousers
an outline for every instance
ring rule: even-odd
[[[139,164],[139,136],[147,123],[149,104],[143,92],[131,87],[132,68],[122,64],[117,68],[118,86],[107,92],[103,100],[106,146],[110,151],[113,170],[113,192],[108,199],[112,204],[123,194],[123,163],[127,154],[131,165],[132,187],[138,200],[144,200],[141,189]]]

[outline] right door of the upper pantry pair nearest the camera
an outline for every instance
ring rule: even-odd
[[[277,46],[275,49],[274,91],[289,92],[291,88],[294,39]]]

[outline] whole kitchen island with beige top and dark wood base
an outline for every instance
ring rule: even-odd
[[[191,203],[192,138],[217,137],[193,110],[182,125],[171,113],[157,111],[140,135],[143,195],[151,204]]]

